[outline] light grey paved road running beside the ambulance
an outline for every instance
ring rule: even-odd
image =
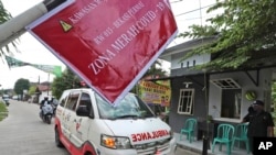
[[[41,121],[38,104],[10,102],[9,117],[0,122],[0,155],[70,155],[55,146],[54,123]],[[176,155],[197,154],[178,147]]]

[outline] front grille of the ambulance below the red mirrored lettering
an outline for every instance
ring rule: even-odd
[[[139,144],[134,147],[136,148],[138,155],[152,155],[157,150],[160,153],[167,151],[170,147],[170,140],[171,139],[166,139],[146,144]]]

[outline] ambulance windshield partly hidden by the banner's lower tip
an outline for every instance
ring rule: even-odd
[[[96,95],[99,117],[102,119],[145,119],[155,117],[149,108],[135,95],[128,93],[116,107],[112,107]]]

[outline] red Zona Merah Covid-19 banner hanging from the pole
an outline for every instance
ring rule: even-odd
[[[178,32],[167,0],[77,0],[28,29],[113,106]]]

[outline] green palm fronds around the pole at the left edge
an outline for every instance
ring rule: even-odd
[[[0,0],[0,25],[3,24],[4,22],[9,21],[12,18],[11,13],[4,9],[2,1]],[[13,47],[15,46],[15,42],[11,42]],[[9,45],[4,46],[7,52],[10,52]],[[0,57],[4,55],[4,52],[2,48],[0,48]]]

